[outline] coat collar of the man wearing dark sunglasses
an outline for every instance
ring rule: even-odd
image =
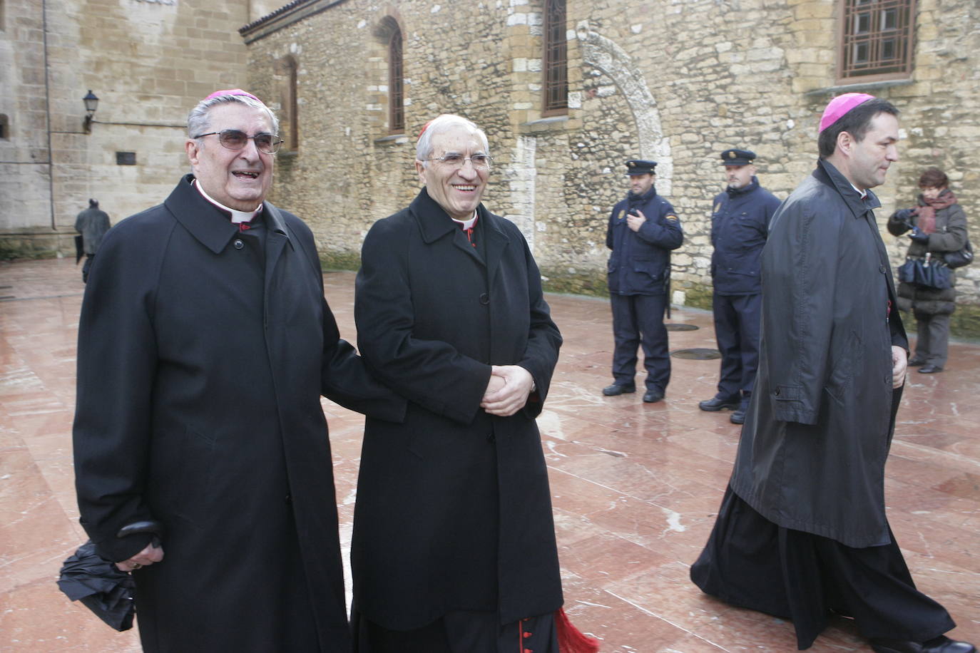
[[[238,233],[238,229],[228,220],[224,211],[204,199],[204,196],[194,188],[193,181],[193,174],[185,174],[170,197],[164,201],[164,206],[202,245],[215,254],[220,254]],[[285,221],[282,219],[282,213],[269,202],[265,203],[263,216],[270,232],[282,234],[288,242],[292,242]]]

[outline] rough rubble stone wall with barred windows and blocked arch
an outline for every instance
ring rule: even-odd
[[[569,110],[542,118],[542,0],[294,2],[243,30],[252,86],[295,57],[299,147],[275,194],[314,226],[324,259],[356,264],[369,225],[417,192],[415,134],[439,113],[482,125],[495,157],[487,206],[521,228],[553,289],[602,293],[606,220],[626,190],[622,163],[653,158],[657,186],[686,234],[674,301],[707,305],[718,153],[749,147],[761,183],[785,198],[812,169],[816,122],[835,94],[860,90],[903,112],[902,161],[877,189],[884,225],[928,165],[947,169],[968,215],[980,192],[980,6],[920,0],[908,80],[838,86],[833,0],[568,0]],[[405,42],[405,134],[386,125],[384,23]],[[980,242],[980,232],[972,229]],[[907,239],[882,229],[892,257]],[[960,273],[980,304],[980,265]],[[969,310],[967,310],[969,313]],[[975,313],[972,313],[975,314]],[[972,319],[972,318],[971,318]]]

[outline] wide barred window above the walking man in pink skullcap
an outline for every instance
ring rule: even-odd
[[[842,0],[840,81],[901,79],[912,71],[915,0]]]

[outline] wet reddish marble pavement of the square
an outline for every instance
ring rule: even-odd
[[[355,340],[354,275],[325,275]],[[54,581],[84,540],[71,426],[80,268],[0,263],[0,651],[138,651]],[[565,344],[539,424],[550,466],[566,610],[604,653],[793,651],[792,626],[732,608],[688,580],[735,454],[730,413],[706,413],[717,360],[672,358],[664,401],[601,396],[613,345],[606,301],[549,296]],[[711,316],[675,310],[670,349],[713,348]],[[642,378],[638,378],[641,382]],[[980,643],[980,347],[953,344],[947,370],[912,372],[887,468],[889,519],[912,576]],[[324,399],[341,538],[350,541],[363,418]],[[346,555],[346,552],[345,552]],[[844,619],[814,653],[870,650]]]

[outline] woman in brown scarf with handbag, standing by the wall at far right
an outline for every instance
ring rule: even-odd
[[[966,213],[956,204],[949,186],[950,178],[941,169],[926,169],[919,177],[922,193],[916,206],[897,210],[888,219],[888,231],[896,236],[911,230],[908,261],[945,267],[945,255],[967,247]],[[908,365],[917,366],[922,374],[942,372],[946,365],[950,315],[956,308],[956,274],[949,269],[942,271],[943,277],[949,275],[949,283],[941,284],[946,288],[907,281],[899,285],[899,308],[911,310],[918,327],[915,355],[908,359]]]

